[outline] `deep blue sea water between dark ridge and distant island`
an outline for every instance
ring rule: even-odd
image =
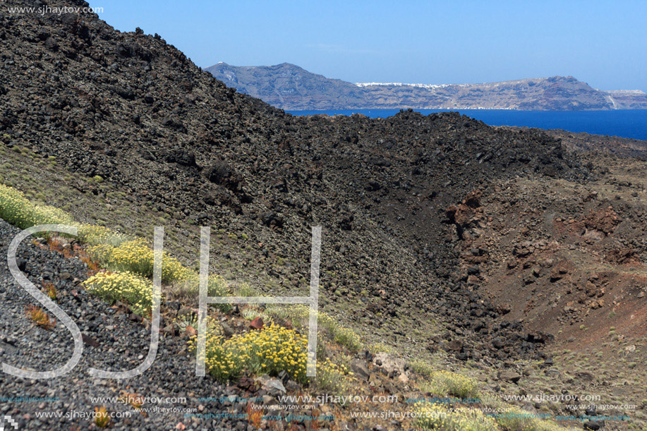
[[[339,111],[287,111],[293,115],[351,115],[364,114],[371,118],[385,118],[399,109],[358,109]],[[446,112],[445,109],[415,109],[421,114]],[[647,109],[616,111],[512,111],[509,109],[462,109],[461,114],[471,116],[490,126],[527,126],[561,128],[571,132],[593,135],[611,135],[622,138],[647,140]]]

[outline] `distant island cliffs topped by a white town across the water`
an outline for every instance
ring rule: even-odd
[[[483,84],[349,83],[290,63],[206,69],[238,92],[286,110],[324,109],[519,109],[586,111],[647,109],[641,90],[596,90],[572,76]]]

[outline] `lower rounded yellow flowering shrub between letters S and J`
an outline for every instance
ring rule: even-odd
[[[133,312],[145,315],[152,307],[152,284],[132,272],[98,272],[83,286],[104,301],[123,301]]]

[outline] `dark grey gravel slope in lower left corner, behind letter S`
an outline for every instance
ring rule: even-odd
[[[6,254],[8,244],[19,230],[0,220],[0,359],[18,368],[45,371],[59,368],[71,357],[73,339],[61,322],[52,331],[35,327],[25,316],[25,308],[36,304],[8,271]],[[126,370],[137,366],[146,355],[150,331],[144,324],[133,322],[116,307],[109,307],[86,293],[80,281],[87,277],[83,262],[67,259],[59,253],[43,250],[25,241],[18,250],[18,264],[24,268],[30,281],[41,286],[52,281],[59,291],[58,304],[78,324],[86,339],[83,357],[68,374],[51,380],[25,380],[0,374],[3,397],[56,397],[58,401],[0,401],[0,413],[18,420],[19,430],[75,430],[87,429],[92,420],[85,419],[96,406],[106,405],[109,412],[131,412],[131,417],[114,418],[113,430],[171,430],[183,422],[186,430],[238,429],[245,423],[202,423],[201,426],[184,420],[184,409],[203,413],[226,411],[231,403],[200,401],[200,397],[219,397],[238,394],[235,387],[226,388],[210,377],[195,377],[195,364],[186,352],[186,340],[161,334],[157,359],[149,370],[126,380],[99,380],[88,375],[89,368]],[[77,293],[74,296],[73,292]],[[133,317],[133,316],[131,316]],[[134,318],[133,318],[134,320]],[[162,322],[164,326],[167,322]],[[123,403],[92,402],[92,397],[119,396],[120,391],[150,397],[186,398],[186,402],[145,403],[144,408],[169,408],[171,411],[149,413],[147,417]],[[170,400],[173,401],[173,400]],[[242,411],[236,404],[234,410]],[[36,413],[59,412],[61,418],[38,418]],[[75,418],[71,416],[74,415]],[[236,427],[238,425],[238,427]]]

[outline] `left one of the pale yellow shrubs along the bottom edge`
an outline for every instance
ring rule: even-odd
[[[494,419],[477,408],[447,408],[444,403],[416,403],[413,406],[416,423],[423,430],[438,431],[498,431]]]

